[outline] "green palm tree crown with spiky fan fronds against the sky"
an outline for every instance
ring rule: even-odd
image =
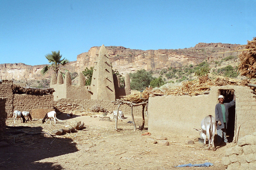
[[[58,52],[52,51],[52,54],[47,54],[47,55],[45,55],[45,57],[47,58],[47,60],[51,64],[50,65],[46,65],[45,67],[43,67],[43,70],[41,71],[43,76],[47,73],[47,71],[49,69],[52,69],[54,71],[54,73],[56,74],[56,77],[58,77],[58,72],[59,71],[64,76],[64,73],[62,73],[62,71],[60,70],[60,66],[61,65],[64,66],[65,64],[69,63],[69,60],[67,60],[65,58],[63,58],[61,60],[62,55],[59,55],[59,51]]]

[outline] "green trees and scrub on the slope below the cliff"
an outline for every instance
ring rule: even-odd
[[[222,61],[228,61],[236,59],[236,57],[229,56],[227,58],[224,58]],[[215,62],[215,64],[220,64],[222,61],[219,61],[218,63]],[[184,80],[194,80],[194,76],[201,77],[208,73],[210,73],[210,64],[207,63],[207,61],[203,61],[200,64],[197,64],[193,66],[192,64],[183,66],[181,68],[172,68],[169,69],[161,69],[160,71],[145,71],[144,69],[138,70],[135,73],[130,73],[130,79],[131,79],[131,90],[144,90],[146,87],[161,87],[162,85],[166,83],[181,83]],[[216,65],[217,66],[217,65]],[[85,75],[86,78],[86,85],[91,85],[92,80],[92,73],[93,73],[93,67],[88,69],[85,68],[85,71],[82,72]],[[121,87],[124,86],[124,77],[119,74],[118,71],[113,71],[113,74],[117,74],[117,76],[120,78]],[[212,73],[216,75],[223,75],[225,77],[237,77],[237,66],[232,67],[231,65],[228,65],[226,67],[222,67],[219,69],[212,69]],[[153,77],[153,74],[160,74],[159,77]]]

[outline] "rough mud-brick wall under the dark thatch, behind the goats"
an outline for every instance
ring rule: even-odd
[[[53,109],[53,95],[14,94],[13,110]]]

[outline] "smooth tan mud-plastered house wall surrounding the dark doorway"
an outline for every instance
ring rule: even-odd
[[[210,94],[199,96],[155,96],[148,103],[148,132],[164,135],[195,137],[201,120],[207,115],[215,117],[215,105],[220,90],[235,90],[236,125],[239,125],[239,138],[254,132],[256,99],[249,87],[212,87]]]

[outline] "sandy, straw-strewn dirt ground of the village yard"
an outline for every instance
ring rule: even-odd
[[[108,117],[109,115],[107,115]],[[131,116],[118,121],[101,118],[102,115],[75,114],[67,119],[66,114],[57,115],[63,122],[42,124],[42,120],[21,123],[7,120],[7,128],[0,136],[0,170],[224,170],[221,158],[228,146],[217,146],[217,151],[208,151],[198,141],[185,136],[166,136],[169,145],[147,143],[147,138],[159,134],[142,135],[139,130],[142,118],[135,116],[137,131],[133,132]],[[112,120],[112,121],[111,121]],[[84,122],[84,128],[75,133],[55,136],[53,130],[65,128],[75,121]],[[175,167],[180,164],[203,164],[211,167]]]

